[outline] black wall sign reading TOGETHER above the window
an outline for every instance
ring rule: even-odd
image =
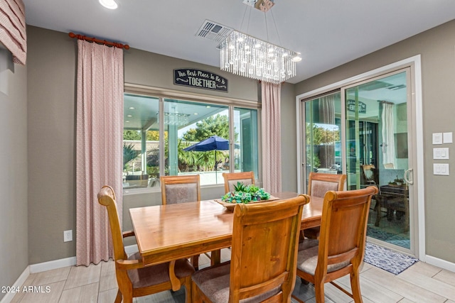
[[[213,72],[191,68],[173,70],[173,84],[228,92],[228,79],[213,74]]]

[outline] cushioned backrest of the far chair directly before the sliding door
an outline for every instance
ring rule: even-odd
[[[324,174],[323,172],[310,172],[307,194],[323,198],[329,190],[340,191],[344,189],[346,175]]]

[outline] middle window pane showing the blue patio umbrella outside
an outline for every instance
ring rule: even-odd
[[[200,174],[200,184],[223,183],[221,175],[229,167],[229,107],[189,101],[164,99],[165,174]],[[193,145],[218,136],[223,146]]]

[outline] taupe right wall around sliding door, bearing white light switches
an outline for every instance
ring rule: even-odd
[[[450,176],[433,175],[433,163],[437,161],[432,160],[432,133],[455,132],[454,50],[455,21],[451,21],[307,79],[295,87],[296,94],[303,94],[392,62],[421,55],[426,251],[427,255],[451,263],[455,263],[455,145],[444,145],[451,154],[451,159],[444,161],[449,162]]]

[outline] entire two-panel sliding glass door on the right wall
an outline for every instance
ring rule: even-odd
[[[370,241],[407,253],[412,243],[410,69],[303,100],[304,176],[344,173],[346,189],[376,186],[368,222]]]

